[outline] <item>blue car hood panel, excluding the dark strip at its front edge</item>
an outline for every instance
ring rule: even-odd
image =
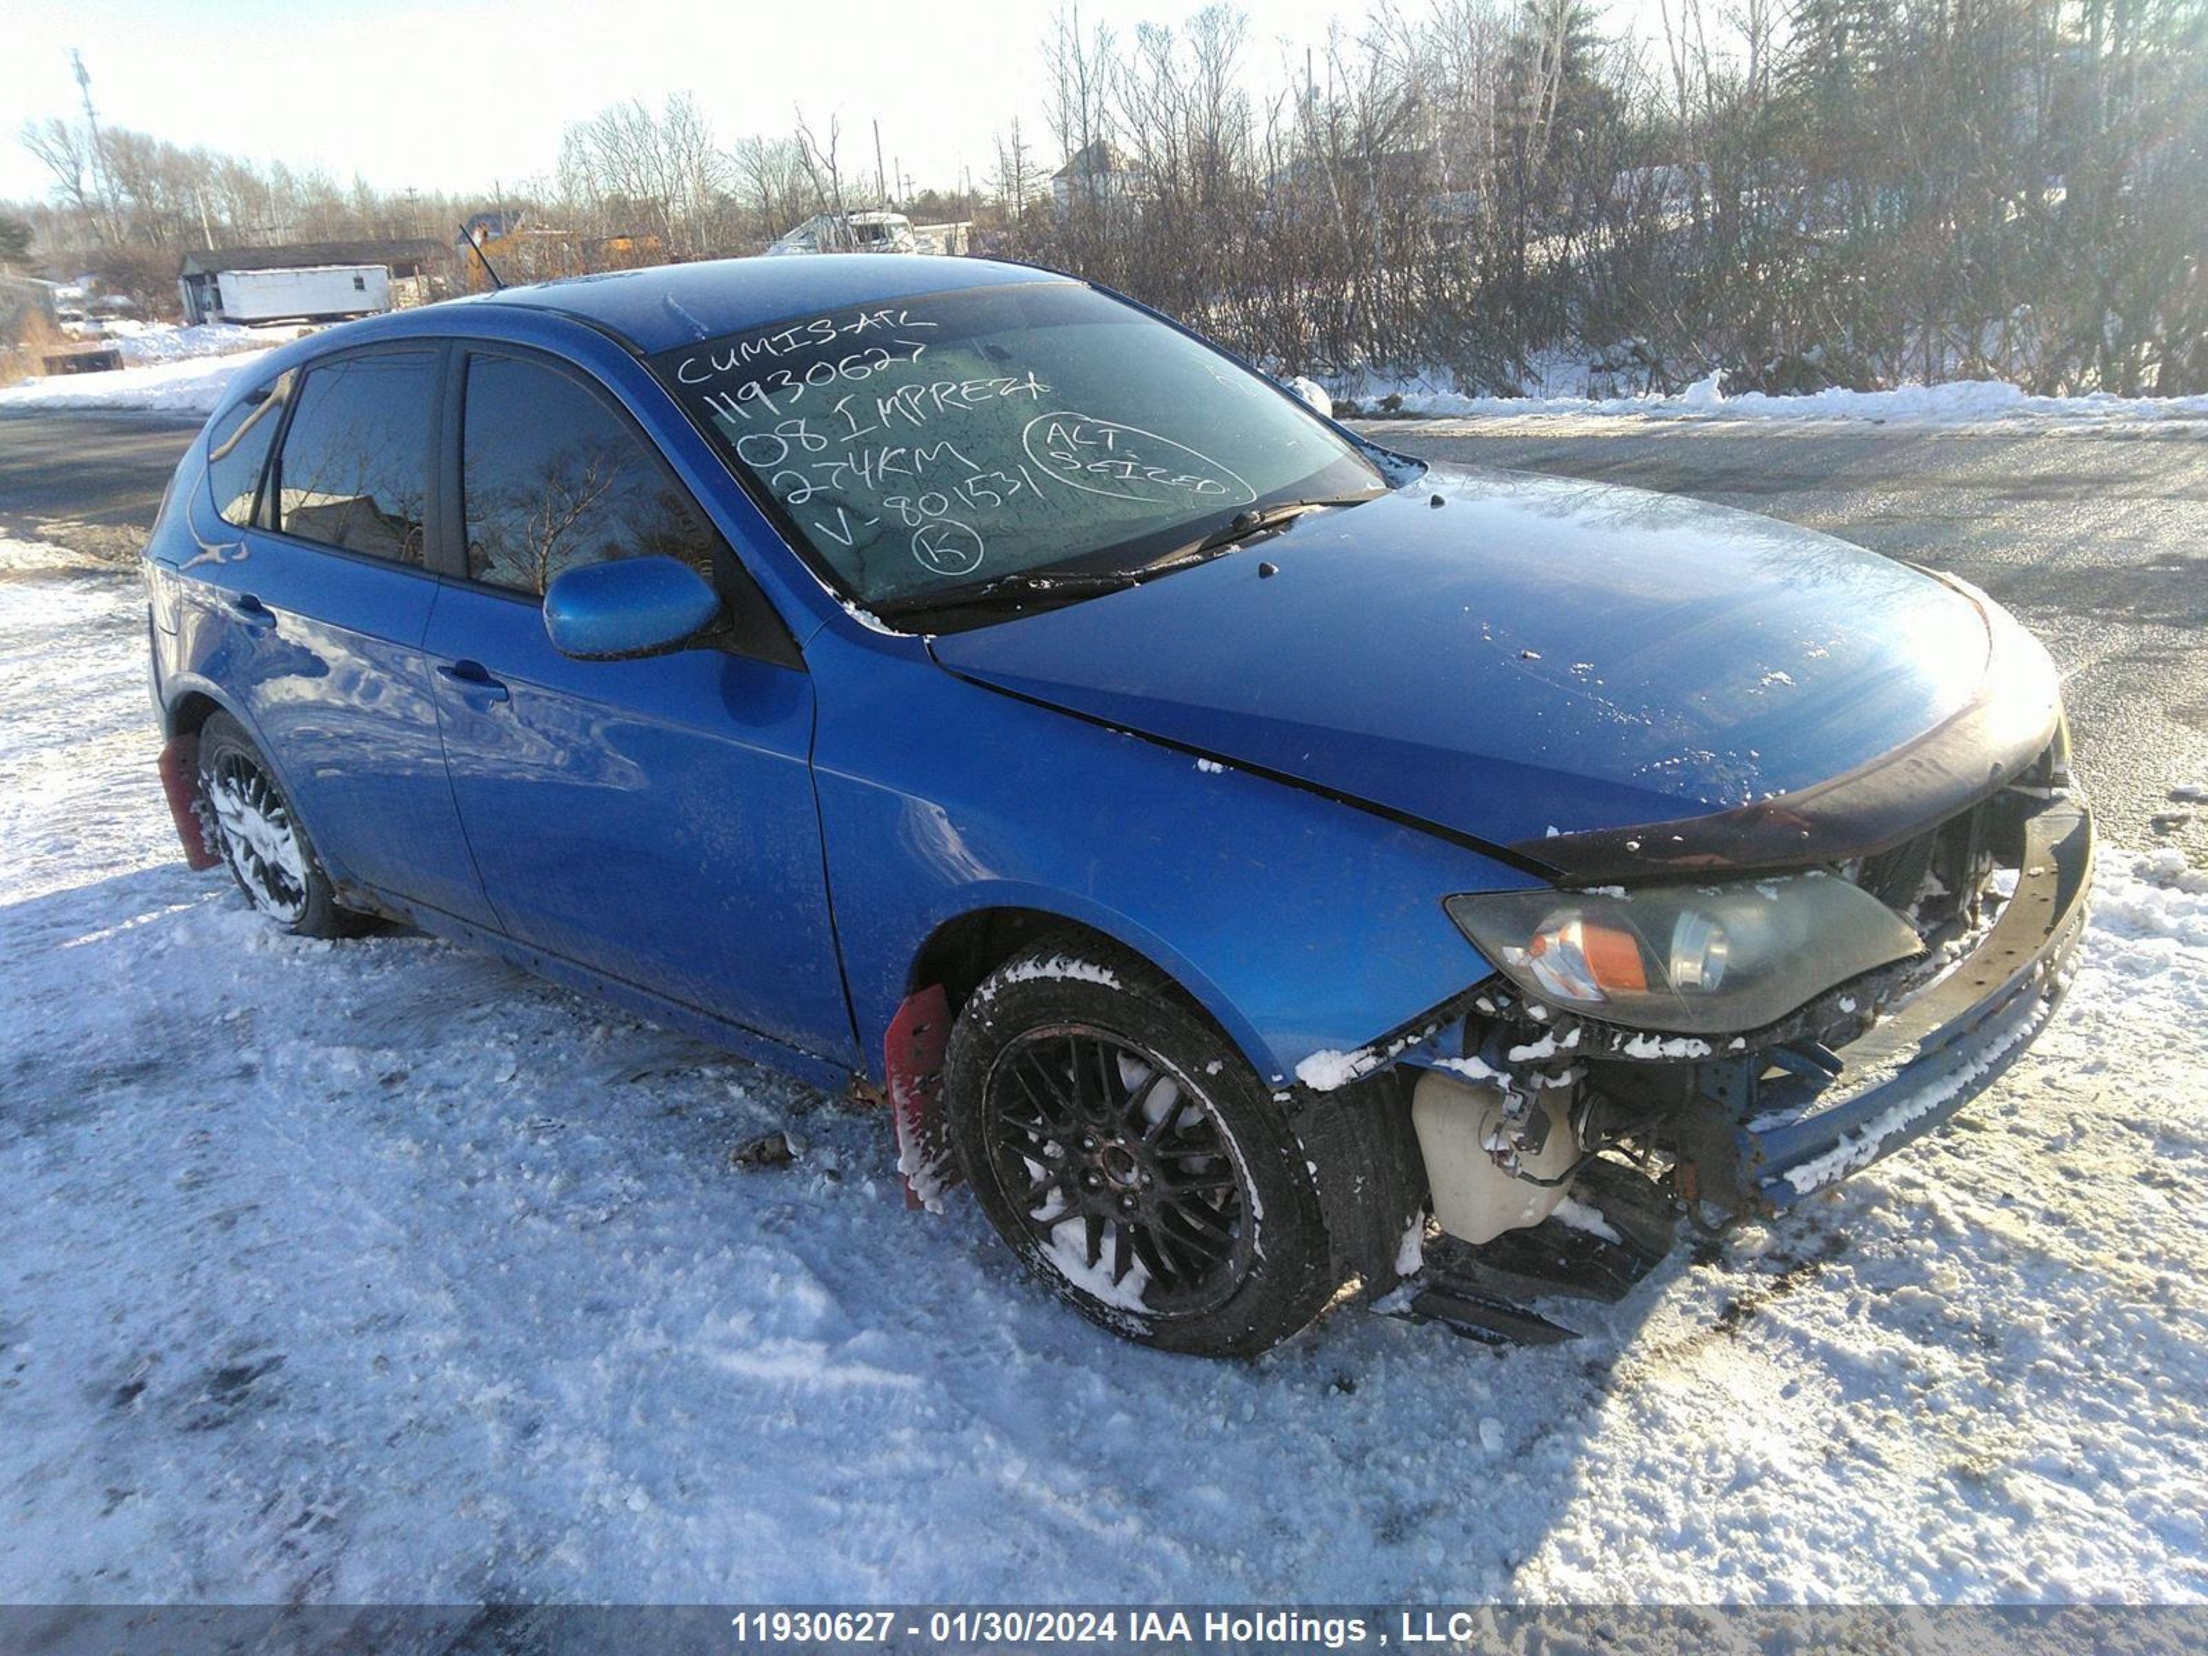
[[[1866,766],[1972,700],[1989,623],[1815,530],[1433,468],[932,649],[969,680],[1508,846]]]

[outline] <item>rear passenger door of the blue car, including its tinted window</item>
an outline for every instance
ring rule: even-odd
[[[194,625],[219,634],[208,671],[331,874],[490,925],[422,658],[439,362],[420,344],[344,353],[238,404],[210,431],[188,574]]]

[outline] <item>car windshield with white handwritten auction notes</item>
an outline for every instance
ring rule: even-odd
[[[815,567],[890,616],[1082,596],[1387,488],[1265,380],[1078,283],[799,316],[654,367]]]

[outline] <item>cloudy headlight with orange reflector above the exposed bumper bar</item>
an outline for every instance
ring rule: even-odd
[[[1535,1000],[1634,1029],[1733,1036],[1835,983],[1923,952],[1833,874],[1621,892],[1473,892],[1448,916]]]

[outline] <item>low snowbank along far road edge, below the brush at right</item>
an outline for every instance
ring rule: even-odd
[[[1685,391],[1647,397],[1468,397],[1459,391],[1422,386],[1393,389],[1395,413],[1406,415],[1506,415],[1528,420],[1539,415],[1638,415],[1645,420],[1875,420],[1919,426],[1974,426],[1989,422],[2093,422],[2144,424],[2170,420],[2208,420],[2208,397],[2034,397],[1998,380],[1950,380],[1894,391],[1815,391],[1800,397],[1771,397],[1760,391],[1727,395],[1711,373]],[[1380,408],[1391,386],[1358,397],[1358,408]]]

